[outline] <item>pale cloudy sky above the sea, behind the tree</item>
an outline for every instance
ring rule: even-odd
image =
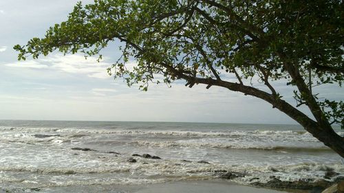
[[[48,27],[67,19],[76,2],[0,1],[0,120],[296,124],[262,100],[219,87],[190,89],[184,82],[171,88],[151,84],[147,92],[127,87],[107,74],[107,67],[120,56],[116,43],[104,50],[100,63],[59,53],[19,62],[12,47],[43,37]],[[289,93],[285,100],[292,102],[284,83],[277,89]],[[343,89],[323,91],[344,98]]]

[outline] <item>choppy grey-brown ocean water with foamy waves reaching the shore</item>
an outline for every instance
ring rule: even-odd
[[[0,120],[0,190],[106,192],[101,188],[211,180],[219,170],[245,173],[233,180],[241,184],[271,176],[316,181],[326,170],[344,174],[344,164],[297,125]]]

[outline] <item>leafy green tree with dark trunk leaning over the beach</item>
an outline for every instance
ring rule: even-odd
[[[95,0],[77,3],[67,21],[50,27],[44,38],[14,49],[19,60],[55,50],[101,58],[101,49],[119,40],[122,56],[108,71],[129,86],[146,91],[151,82],[182,79],[190,88],[206,84],[252,95],[344,157],[344,137],[333,129],[344,126],[344,103],[314,93],[319,85],[341,88],[343,14],[339,0]],[[131,71],[129,60],[138,63]],[[156,80],[157,74],[164,78]],[[276,81],[294,89],[297,105],[282,99]]]

